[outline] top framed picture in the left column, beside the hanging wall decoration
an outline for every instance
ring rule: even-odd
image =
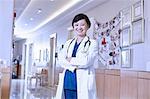
[[[121,11],[122,15],[122,28],[128,27],[131,25],[131,7],[123,9]]]

